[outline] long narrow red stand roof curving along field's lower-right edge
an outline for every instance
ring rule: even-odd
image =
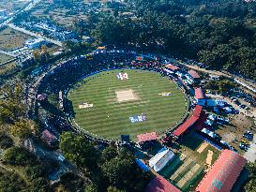
[[[203,111],[203,107],[200,105],[197,105],[195,107],[195,110],[193,111],[192,116],[189,117],[188,120],[185,123],[183,123],[181,126],[178,126],[178,128],[173,131],[173,135],[176,137],[183,135],[190,126],[193,126],[197,122],[197,120],[200,119],[202,111]]]

